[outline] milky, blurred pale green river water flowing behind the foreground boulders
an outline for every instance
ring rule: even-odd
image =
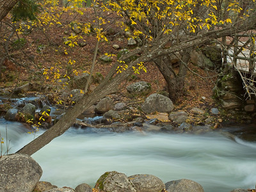
[[[4,120],[0,121],[2,136],[5,127],[11,152],[34,138],[22,124]],[[200,183],[205,192],[254,188],[256,183],[256,140],[232,140],[218,132],[118,134],[70,128],[32,157],[42,166],[40,180],[59,187],[76,188],[82,182],[94,186],[100,175],[113,170],[127,176],[152,174],[163,182],[191,179]]]

